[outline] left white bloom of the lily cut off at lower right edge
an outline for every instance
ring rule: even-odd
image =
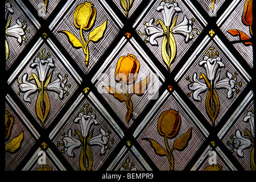
[[[237,155],[243,157],[243,150],[251,146],[251,140],[242,137],[241,131],[237,130],[233,145],[235,147],[234,151],[237,152]]]

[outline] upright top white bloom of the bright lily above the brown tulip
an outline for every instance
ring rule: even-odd
[[[164,25],[170,26],[172,23],[172,17],[177,12],[181,12],[180,7],[177,3],[170,3],[170,2],[161,2],[158,7],[156,7],[156,11],[159,11],[163,15]]]

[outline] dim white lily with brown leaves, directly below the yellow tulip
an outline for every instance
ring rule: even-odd
[[[114,139],[110,140],[110,131],[106,133],[100,128],[100,134],[93,136],[93,125],[98,125],[96,115],[92,114],[92,108],[88,108],[88,104],[84,105],[79,115],[74,119],[74,123],[79,123],[80,130],[75,130],[75,136],[72,136],[72,129],[68,130],[68,135],[62,139],[63,143],[58,142],[57,146],[64,146],[62,152],[67,152],[68,156],[74,156],[73,150],[80,148],[80,169],[81,171],[90,171],[93,166],[93,154],[91,147],[100,146],[100,154],[104,155],[109,146],[109,141],[114,143]]]

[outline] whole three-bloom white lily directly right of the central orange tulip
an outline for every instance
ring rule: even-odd
[[[191,90],[187,95],[190,97],[193,93],[193,99],[201,102],[200,94],[207,91],[205,109],[214,125],[218,112],[220,111],[220,100],[216,89],[228,90],[227,98],[232,98],[234,92],[239,92],[236,85],[241,86],[242,82],[237,82],[237,72],[235,72],[233,76],[232,73],[226,71],[226,77],[220,78],[220,69],[225,67],[225,65],[222,63],[221,57],[216,56],[218,55],[218,51],[214,53],[214,47],[210,47],[209,49],[211,50],[212,55],[207,51],[206,54],[208,56],[204,56],[203,60],[199,62],[199,65],[205,68],[207,76],[205,76],[204,73],[200,73],[200,80],[198,80],[197,74],[194,73],[193,81],[189,80],[189,77],[187,77],[186,79],[190,82],[188,84],[188,89]]]

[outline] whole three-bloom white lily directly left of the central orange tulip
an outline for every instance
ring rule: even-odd
[[[40,119],[42,122],[42,126],[44,126],[44,121],[46,121],[51,107],[48,92],[53,91],[59,93],[59,97],[62,99],[64,94],[69,94],[67,89],[71,86],[67,85],[68,75],[65,75],[63,78],[59,73],[58,78],[54,81],[51,81],[53,71],[49,73],[49,70],[54,68],[55,65],[52,58],[48,57],[51,56],[49,53],[47,53],[47,56],[44,56],[45,51],[46,49],[43,49],[43,54],[40,55],[39,53],[38,57],[36,57],[33,63],[30,65],[31,68],[36,69],[37,75],[36,73],[32,72],[30,74],[29,80],[27,80],[28,74],[25,73],[22,76],[21,84],[19,83],[18,79],[16,80],[19,84],[18,94],[20,94],[20,92],[24,93],[24,101],[31,103],[31,99],[29,97],[30,94],[38,91],[38,96],[36,100],[34,100],[36,102],[35,110],[38,119]],[[34,80],[35,84],[32,80]]]

